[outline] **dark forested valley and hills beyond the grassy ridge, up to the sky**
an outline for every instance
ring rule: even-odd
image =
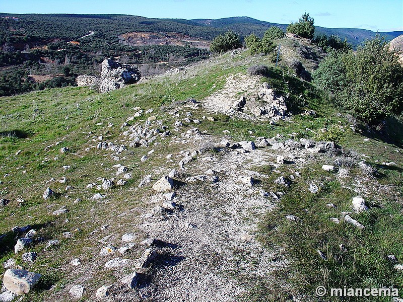
[[[145,76],[165,72],[209,57],[210,41],[228,30],[243,40],[251,33],[262,37],[271,26],[287,27],[249,17],[183,20],[0,13],[0,96],[74,85],[78,74],[98,74],[107,57],[140,64]],[[315,35],[322,34],[347,39],[353,47],[375,36],[361,29],[316,27]],[[385,37],[390,40],[396,34]]]

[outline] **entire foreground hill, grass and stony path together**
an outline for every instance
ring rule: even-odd
[[[0,272],[41,274],[22,299],[402,290],[403,149],[287,67],[320,49],[281,42],[278,67],[238,49],[106,94],[1,98]]]

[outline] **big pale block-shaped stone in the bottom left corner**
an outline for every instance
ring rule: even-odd
[[[4,273],[3,284],[16,294],[26,294],[38,283],[40,274],[24,269],[8,269]]]

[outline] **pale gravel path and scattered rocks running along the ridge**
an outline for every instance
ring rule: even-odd
[[[65,176],[38,186],[48,187],[35,194],[43,194],[43,200],[49,202],[52,220],[73,223],[76,228],[53,234],[51,240],[36,234],[39,226],[13,229],[16,257],[3,264],[11,270],[4,275],[0,301],[18,298],[9,289],[24,294],[31,288],[34,293],[46,290],[41,298],[47,301],[239,301],[256,280],[282,282],[276,271],[289,266],[290,259],[283,247],[267,248],[259,240],[258,225],[279,206],[294,181],[308,176],[301,171],[319,163],[323,173],[353,186],[357,197],[371,195],[370,185],[380,191],[390,189],[373,178],[357,177],[353,184],[348,181],[350,168],[345,161],[354,161],[350,167],[359,167],[365,175],[373,171],[365,161],[359,163],[360,155],[348,157],[331,141],[303,138],[296,132],[257,137],[253,131],[251,139],[234,140],[216,114],[271,125],[292,117],[286,96],[277,94],[259,77],[235,73],[225,83],[211,96],[188,100],[162,116],[154,115],[158,108],[139,107],[118,123],[100,123],[96,131],[86,129],[82,134],[87,142],[74,151],[60,147],[65,145],[60,144],[61,137],[44,146],[60,157],[73,153],[98,156],[100,173],[89,179],[88,171],[80,170],[82,178],[89,179],[83,185],[69,178],[71,166],[62,166]],[[315,115],[313,110],[304,114],[310,119]],[[206,123],[212,127],[221,123],[223,130],[200,130]],[[119,134],[110,139],[112,133]],[[51,160],[49,156],[42,163]],[[143,165],[141,171],[135,163]],[[53,191],[55,186],[65,189]],[[307,182],[304,190],[316,194],[322,186],[319,181]],[[9,201],[2,199],[5,206]],[[85,202],[91,204],[85,214],[72,212],[71,208]],[[340,210],[331,219],[363,229],[353,213],[366,210],[365,200],[358,198],[353,200],[351,212]],[[296,221],[299,217],[290,213],[281,219]],[[86,238],[80,243],[76,238],[83,232]],[[62,243],[63,248],[74,246],[75,252],[57,254]],[[37,245],[43,250],[30,253]],[[326,251],[317,253],[326,257]],[[68,276],[61,285],[24,275],[29,263],[55,255],[60,257],[56,269]],[[39,289],[35,289],[38,280]]]

